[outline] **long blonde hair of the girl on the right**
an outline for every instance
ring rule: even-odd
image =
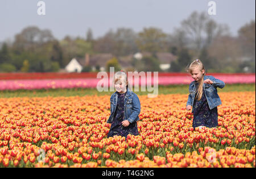
[[[198,86],[198,89],[197,89],[197,95],[196,95],[196,99],[198,101],[200,101],[200,99],[202,98],[202,95],[203,95],[203,85],[204,85],[204,76],[205,76],[205,68],[204,68],[204,65],[203,63],[201,62],[201,60],[197,59],[197,60],[194,60],[190,65],[189,67],[187,68],[187,71],[189,73],[192,73],[193,69],[195,68],[199,68],[200,71],[203,73],[203,70],[204,70],[204,73],[203,73],[203,77],[200,79],[200,81],[198,82],[199,83],[199,86]]]

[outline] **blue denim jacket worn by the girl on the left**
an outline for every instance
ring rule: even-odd
[[[128,120],[130,123],[137,122],[139,120],[139,113],[141,113],[141,103],[137,94],[127,88],[127,93],[125,96],[125,113],[123,114],[123,120]],[[110,97],[110,116],[107,123],[112,123],[115,109],[117,107],[117,91],[113,93]]]

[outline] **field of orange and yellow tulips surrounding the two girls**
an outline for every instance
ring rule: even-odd
[[[218,127],[195,130],[188,93],[138,95],[127,138],[107,138],[110,95],[0,97],[0,167],[255,168],[255,85],[219,95]]]

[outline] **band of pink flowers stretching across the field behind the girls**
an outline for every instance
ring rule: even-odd
[[[255,74],[240,75],[234,74],[233,76],[219,74],[215,75],[224,81],[226,84],[251,84],[255,83]],[[68,78],[68,79],[48,79],[48,80],[0,80],[0,90],[18,90],[18,89],[57,89],[57,88],[96,88],[101,79],[97,78]],[[191,76],[160,76],[158,77],[158,85],[177,85],[177,84],[190,84],[193,79]],[[106,84],[110,84],[110,80],[105,80]],[[130,85],[139,84],[140,86],[146,85],[146,80],[133,80],[129,81]],[[150,81],[153,86],[154,78]]]

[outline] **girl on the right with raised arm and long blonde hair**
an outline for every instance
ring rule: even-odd
[[[217,94],[217,87],[224,88],[225,83],[213,76],[205,75],[205,68],[200,60],[195,60],[189,65],[188,72],[193,78],[189,85],[187,110],[192,109],[193,128],[218,126],[217,106],[221,105]]]

